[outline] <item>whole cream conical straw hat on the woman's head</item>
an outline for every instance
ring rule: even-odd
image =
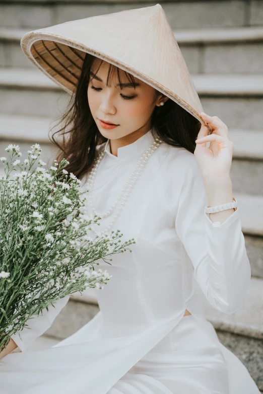
[[[33,64],[71,94],[88,52],[144,81],[205,123],[198,93],[160,4],[33,30],[22,37],[21,47]]]

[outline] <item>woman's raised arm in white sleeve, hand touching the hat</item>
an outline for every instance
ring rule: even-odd
[[[204,116],[205,121],[209,118]],[[181,157],[183,186],[175,227],[193,264],[194,276],[209,302],[222,312],[233,313],[244,304],[251,269],[239,208],[216,212],[210,217],[205,212],[207,205],[232,202],[229,176],[232,142],[226,130],[216,127],[215,123],[219,126],[223,123],[217,117],[208,123],[221,135],[215,136],[213,131],[208,136],[204,126],[199,137],[206,134],[205,142],[196,145],[194,156]],[[215,142],[218,138],[220,146]],[[206,141],[214,142],[207,148]]]

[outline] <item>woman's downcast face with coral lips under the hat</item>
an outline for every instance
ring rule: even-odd
[[[91,77],[97,71],[100,62],[100,59],[94,60],[90,72]],[[155,89],[136,77],[135,82],[138,85],[135,89],[133,86],[126,86],[121,90],[117,86],[119,81],[116,70],[110,75],[110,83],[107,87],[108,67],[109,63],[103,61],[97,75],[88,85],[88,103],[100,133],[109,139],[121,138],[133,132],[138,134],[138,131],[139,134],[144,134],[150,130],[152,112],[163,95],[159,94],[156,98]],[[129,84],[124,71],[121,69],[119,69],[119,76],[123,84]],[[100,120],[118,126],[106,129],[102,126]]]

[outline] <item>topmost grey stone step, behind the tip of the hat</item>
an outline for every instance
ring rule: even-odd
[[[96,15],[148,7],[151,0],[2,0],[0,26],[40,28]],[[261,1],[160,1],[172,29],[227,28],[263,25]],[[15,15],[15,18],[14,18]]]

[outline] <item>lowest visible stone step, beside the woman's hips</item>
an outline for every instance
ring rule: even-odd
[[[91,291],[88,291],[91,290]],[[45,335],[61,340],[74,334],[98,313],[96,291],[75,293],[54,320]],[[103,291],[103,290],[102,290]],[[248,368],[258,387],[263,390],[263,279],[251,278],[244,306],[233,314],[224,314],[208,307],[206,318],[213,324],[220,341]]]

